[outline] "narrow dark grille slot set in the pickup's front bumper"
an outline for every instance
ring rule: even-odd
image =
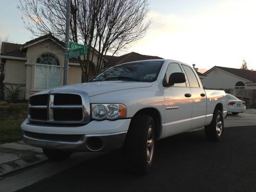
[[[77,142],[81,140],[81,136],[82,136],[82,135],[43,134],[43,133],[33,133],[28,131],[25,131],[24,134],[27,137],[34,138],[34,139],[64,141],[64,142]]]

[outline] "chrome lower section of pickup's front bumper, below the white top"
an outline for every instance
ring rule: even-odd
[[[88,134],[82,135],[79,141],[59,141],[53,139],[33,138],[23,132],[23,141],[32,146],[41,148],[50,148],[65,151],[81,151],[81,152],[98,152],[98,151],[113,151],[121,148],[127,132],[117,132],[110,134]],[[93,144],[96,143],[96,147]]]

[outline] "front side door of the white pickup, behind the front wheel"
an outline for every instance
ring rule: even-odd
[[[170,74],[181,72],[179,63],[169,63],[165,78]],[[171,87],[163,87],[164,111],[165,111],[165,133],[164,137],[187,131],[191,127],[192,99],[189,96],[188,82],[175,83]]]

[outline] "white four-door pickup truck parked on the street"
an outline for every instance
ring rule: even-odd
[[[123,147],[131,167],[147,174],[156,140],[204,126],[206,138],[217,141],[226,115],[224,91],[204,90],[185,63],[158,59],[124,63],[88,83],[34,94],[21,127],[24,142],[51,160]]]

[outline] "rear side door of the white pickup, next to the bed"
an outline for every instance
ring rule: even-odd
[[[202,83],[195,71],[187,65],[181,64],[184,69],[191,92],[192,99],[192,124],[191,129],[204,126],[206,120],[206,94]]]

